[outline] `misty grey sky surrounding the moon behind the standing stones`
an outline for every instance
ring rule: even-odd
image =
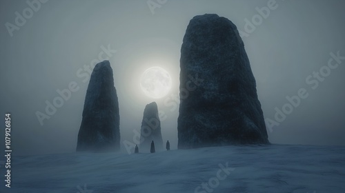
[[[345,145],[345,60],[330,54],[345,56],[345,1],[159,2],[150,10],[145,0],[50,0],[30,15],[26,1],[0,1],[0,123],[6,112],[12,114],[14,154],[75,151],[88,68],[99,59],[108,59],[114,72],[121,145],[134,143],[145,105],[156,101],[165,114],[163,141],[176,149],[181,43],[190,19],[205,13],[226,17],[246,33],[242,39],[266,120],[275,121],[275,108],[282,110],[286,96],[307,92],[268,130],[271,143]],[[268,5],[273,9],[266,18],[257,17]],[[16,12],[23,16],[23,10],[28,19],[17,26]],[[257,26],[250,28],[253,18]],[[172,77],[172,90],[161,99],[148,98],[139,87],[140,75],[155,65]],[[319,77],[313,74],[320,70]],[[41,125],[35,113],[46,113],[46,101],[52,103],[57,90],[73,82],[79,89]]]

